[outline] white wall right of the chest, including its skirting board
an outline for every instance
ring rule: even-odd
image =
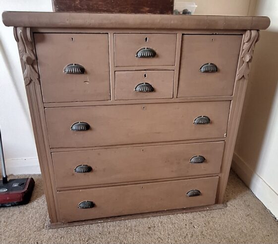
[[[278,0],[258,0],[271,18],[256,45],[232,168],[278,218]]]

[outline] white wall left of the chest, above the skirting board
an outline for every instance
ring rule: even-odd
[[[51,0],[0,0],[0,13],[52,11]],[[13,29],[0,21],[0,127],[7,173],[40,173]]]

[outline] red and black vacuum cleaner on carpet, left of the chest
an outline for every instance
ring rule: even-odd
[[[0,157],[2,164],[2,180],[0,181],[0,207],[27,204],[30,201],[35,186],[35,181],[33,178],[8,180],[6,175],[1,131]]]

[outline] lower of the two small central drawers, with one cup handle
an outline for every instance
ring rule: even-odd
[[[174,71],[115,72],[115,99],[151,99],[173,97]]]

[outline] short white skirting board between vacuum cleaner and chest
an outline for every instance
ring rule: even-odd
[[[41,174],[37,157],[6,159],[5,165],[7,175]]]

